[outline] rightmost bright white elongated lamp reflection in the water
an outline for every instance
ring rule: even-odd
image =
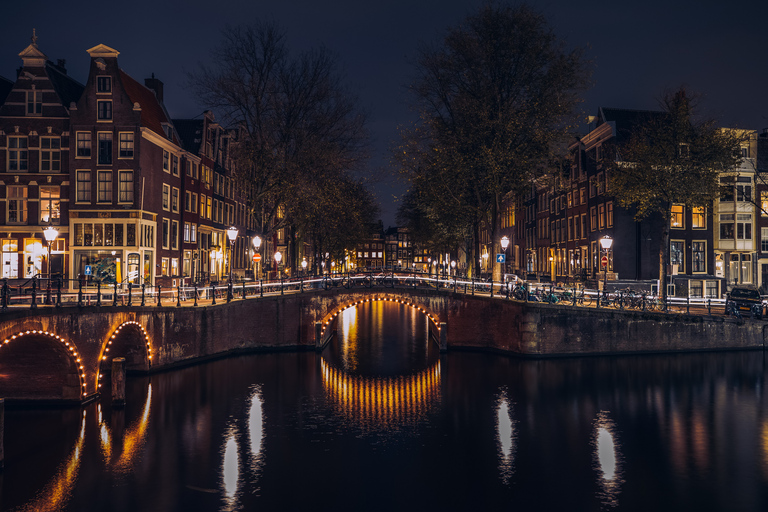
[[[598,413],[592,435],[592,444],[595,450],[594,463],[601,489],[601,501],[612,507],[619,504],[620,487],[624,483],[621,471],[621,445],[617,438],[616,425],[608,417],[608,414],[603,411]]]

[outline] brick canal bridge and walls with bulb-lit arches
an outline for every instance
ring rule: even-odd
[[[0,397],[81,403],[114,357],[149,372],[259,350],[321,348],[366,301],[419,309],[441,349],[528,356],[763,348],[764,322],[524,303],[427,287],[337,288],[218,305],[10,309],[0,319]]]

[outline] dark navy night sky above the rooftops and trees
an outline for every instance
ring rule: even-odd
[[[703,95],[703,107],[723,126],[768,128],[768,2],[548,0],[530,2],[568,45],[587,48],[595,85],[584,109],[600,106],[653,109],[665,89],[686,85]],[[84,82],[88,48],[103,43],[120,51],[120,66],[141,80],[165,82],[165,102],[176,118],[203,110],[184,89],[186,73],[207,61],[226,25],[274,20],[289,46],[323,44],[335,52],[360,104],[371,114],[373,167],[389,162],[397,126],[413,114],[405,86],[419,41],[438,39],[480,0],[273,2],[241,0],[103,0],[4,2],[0,19],[0,75],[15,79],[18,53],[37,30],[49,59],[66,59]],[[76,7],[75,7],[76,6]],[[377,185],[384,224],[394,225],[393,194],[402,185]]]

